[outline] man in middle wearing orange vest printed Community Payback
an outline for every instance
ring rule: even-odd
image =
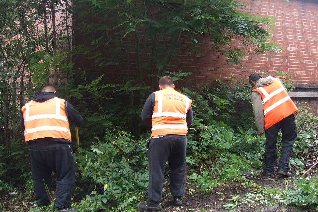
[[[164,76],[159,80],[159,91],[146,100],[141,118],[151,128],[148,147],[148,201],[139,205],[140,211],[162,209],[162,188],[165,163],[169,162],[170,190],[173,204],[180,206],[185,194],[186,145],[188,128],[192,124],[192,101],[174,90],[173,80]]]

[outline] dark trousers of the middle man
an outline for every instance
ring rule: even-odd
[[[147,153],[149,161],[149,204],[156,204],[162,200],[165,163],[167,161],[171,170],[171,194],[174,197],[184,196],[186,148],[186,135],[166,135],[151,139]]]

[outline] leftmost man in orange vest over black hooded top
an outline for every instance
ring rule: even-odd
[[[75,178],[74,153],[71,149],[69,121],[80,126],[83,118],[73,106],[56,95],[48,85],[22,107],[22,130],[30,147],[35,198],[39,206],[49,205],[45,184],[52,171],[56,175],[54,208],[59,212],[71,209],[71,189]]]

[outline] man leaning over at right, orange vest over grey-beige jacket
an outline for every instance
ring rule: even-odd
[[[277,136],[282,131],[282,149],[278,163],[278,174],[289,177],[289,160],[296,141],[295,115],[298,112],[293,100],[279,78],[262,78],[258,73],[249,76],[252,92],[253,112],[258,135],[265,132],[264,175],[274,175],[277,161]]]

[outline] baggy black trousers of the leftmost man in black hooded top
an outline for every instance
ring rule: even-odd
[[[30,147],[32,177],[35,198],[40,206],[49,205],[45,184],[52,171],[56,174],[56,199],[54,208],[64,209],[71,205],[71,189],[75,178],[74,153],[70,145]]]

